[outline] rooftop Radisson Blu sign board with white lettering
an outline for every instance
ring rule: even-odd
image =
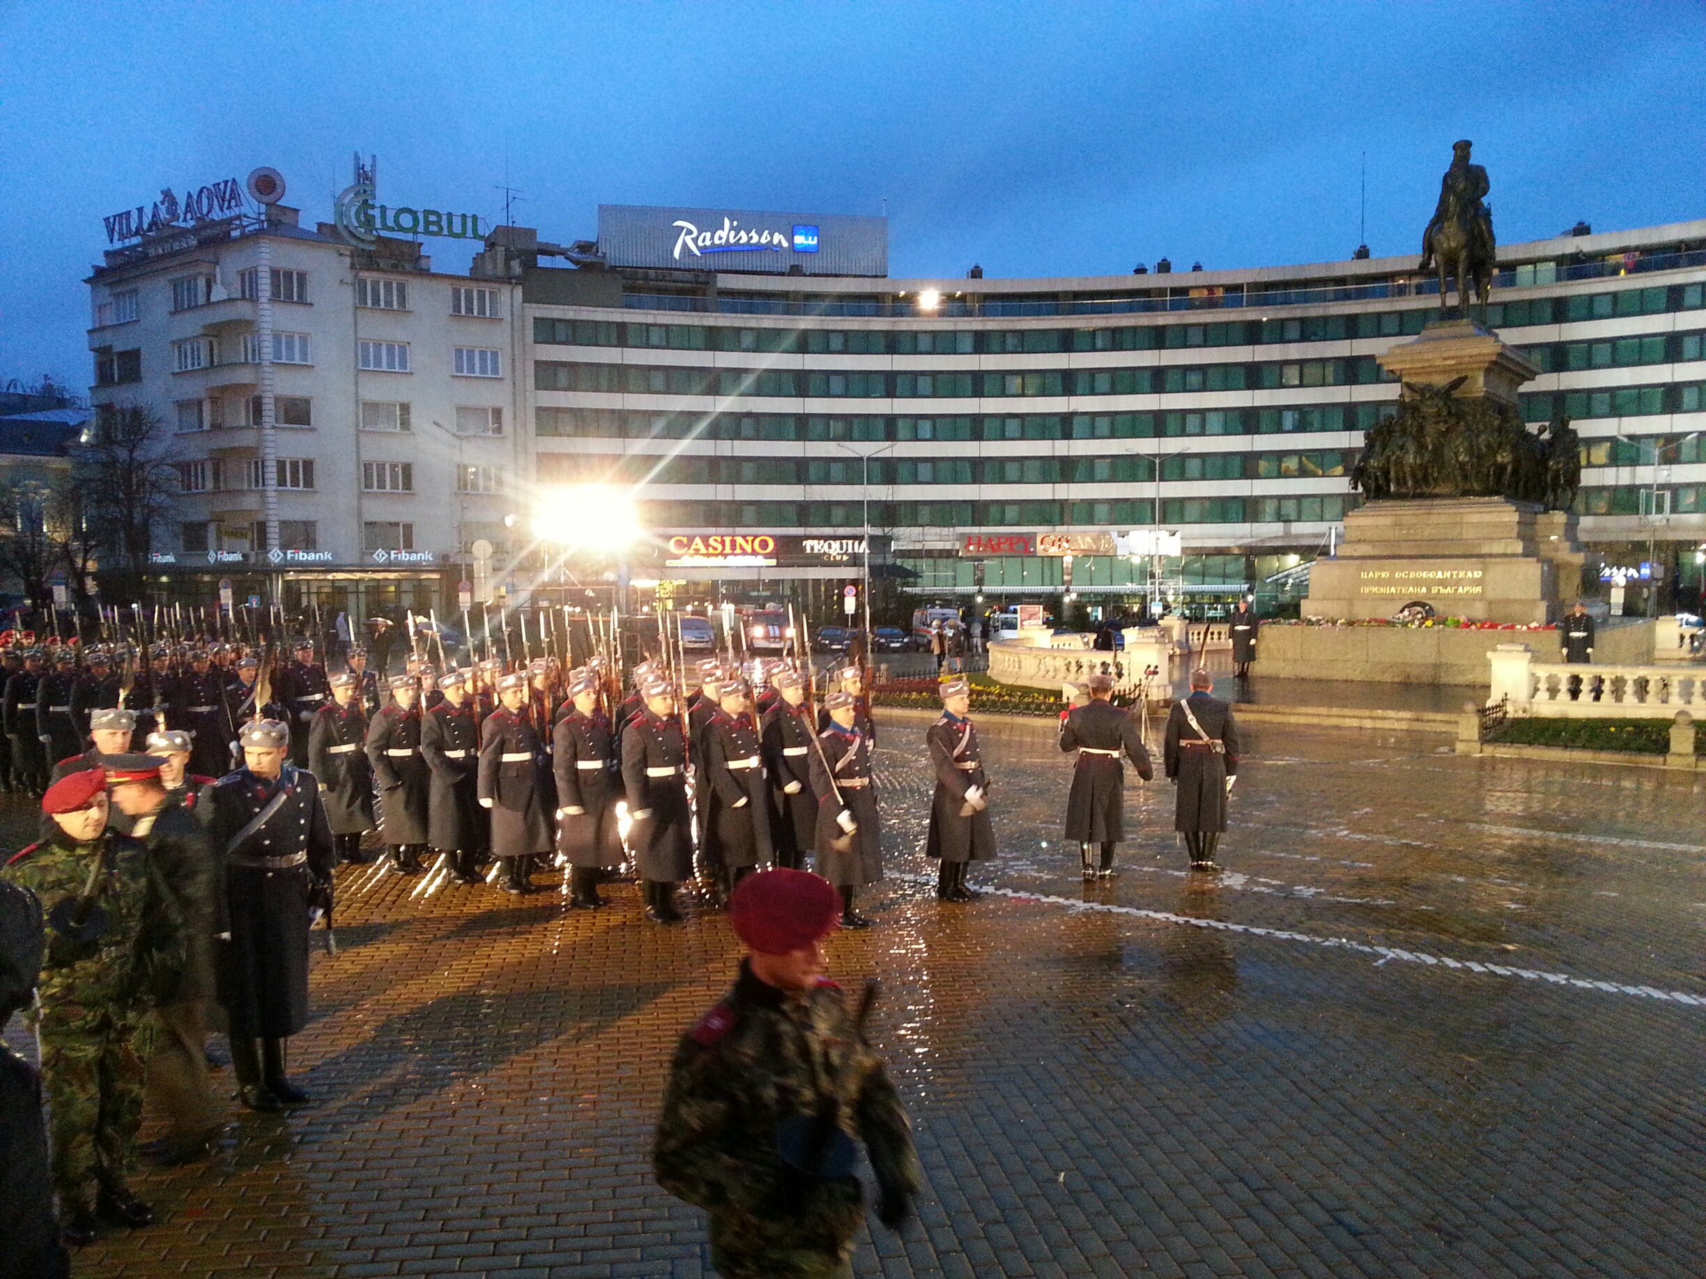
[[[599,252],[611,266],[885,276],[889,223],[833,213],[599,205]]]

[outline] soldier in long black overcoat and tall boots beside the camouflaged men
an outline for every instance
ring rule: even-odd
[[[338,865],[319,781],[287,759],[290,728],[251,720],[244,766],[208,793],[218,1001],[230,1028],[237,1100],[251,1110],[302,1105],[285,1040],[309,1020],[309,907],[331,906]]]

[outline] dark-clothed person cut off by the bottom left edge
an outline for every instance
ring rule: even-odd
[[[34,1003],[46,950],[41,902],[0,878],[0,1030]],[[53,1211],[41,1076],[0,1042],[0,1274],[68,1279],[72,1259]]]

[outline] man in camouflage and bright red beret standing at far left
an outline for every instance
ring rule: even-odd
[[[34,1015],[48,1093],[53,1184],[70,1245],[96,1221],[138,1228],[154,1211],[126,1172],[142,1127],[143,1027],[155,982],[181,964],[172,887],[142,841],[107,830],[106,773],[72,773],[41,798],[53,832],[7,866],[36,894],[48,953]]]

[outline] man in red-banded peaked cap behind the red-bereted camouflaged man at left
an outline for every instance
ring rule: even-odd
[[[154,981],[154,1050],[148,1056],[148,1107],[169,1131],[145,1148],[150,1161],[172,1168],[206,1158],[225,1126],[225,1107],[208,1079],[208,1006],[213,999],[213,849],[206,830],[160,778],[160,759],[147,754],[102,759],[113,808],[130,819],[152,866],[171,887],[167,916],[154,929],[172,929],[183,960]],[[162,946],[164,948],[164,946]]]

